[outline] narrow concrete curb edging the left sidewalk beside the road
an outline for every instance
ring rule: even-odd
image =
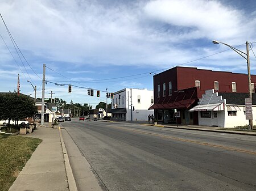
[[[65,163],[65,168],[66,168],[66,173],[67,173],[69,190],[70,191],[77,191],[76,181],[75,181],[75,178],[73,176],[71,165],[69,163],[68,152],[66,150],[65,143],[63,141],[60,126],[59,126],[58,129],[59,129],[59,133],[60,133],[60,142],[61,142],[61,147],[62,147],[62,150],[63,150],[64,163]]]

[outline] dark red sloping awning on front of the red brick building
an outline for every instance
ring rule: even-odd
[[[148,109],[188,109],[193,103],[195,103],[195,101],[195,99],[187,99],[175,101],[173,103],[154,104]]]

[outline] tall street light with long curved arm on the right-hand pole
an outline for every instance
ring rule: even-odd
[[[238,50],[236,48],[234,48],[233,46],[230,46],[229,44],[226,43],[221,43],[217,40],[213,40],[212,41],[213,44],[224,44],[226,46],[228,46],[229,48],[231,48],[232,50],[234,50],[234,52],[238,53],[241,57],[245,58],[245,60],[247,61],[247,71],[248,71],[248,83],[249,83],[249,94],[250,94],[250,99],[251,102],[253,102],[253,96],[252,96],[252,92],[251,92],[251,71],[250,71],[250,57],[249,57],[249,43],[248,41],[246,41],[246,53],[242,52],[241,50]],[[253,120],[249,120],[249,128],[253,129]]]

